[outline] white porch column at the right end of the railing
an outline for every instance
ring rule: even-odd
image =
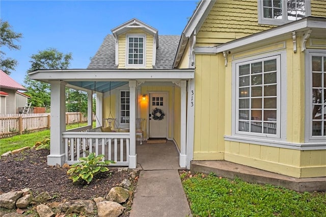
[[[129,168],[135,169],[137,167],[137,154],[136,154],[136,123],[135,123],[135,112],[136,112],[136,81],[129,81]]]

